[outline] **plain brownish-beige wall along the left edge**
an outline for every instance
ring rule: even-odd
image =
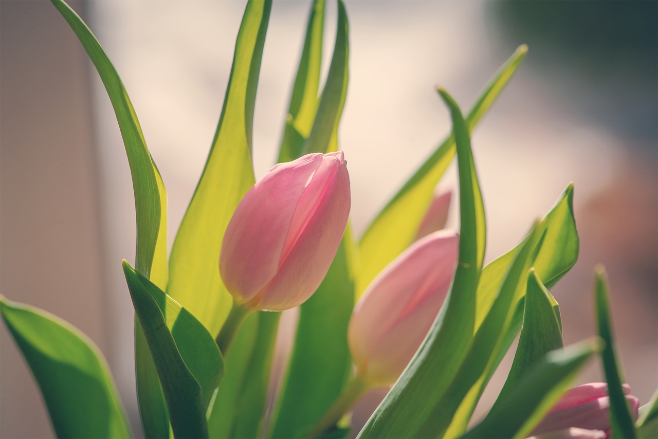
[[[0,58],[0,292],[107,352],[86,55],[50,2],[0,1]],[[0,343],[0,436],[53,436],[4,324]]]

